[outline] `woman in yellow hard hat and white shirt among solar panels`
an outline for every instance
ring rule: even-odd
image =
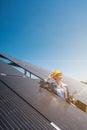
[[[63,99],[73,100],[73,94],[69,93],[67,85],[61,81],[62,80],[61,71],[55,70],[53,73],[51,73],[48,76],[48,78],[45,79],[45,81],[48,81],[50,79],[54,79],[54,81],[55,81],[52,84],[53,84],[58,96],[60,96]]]

